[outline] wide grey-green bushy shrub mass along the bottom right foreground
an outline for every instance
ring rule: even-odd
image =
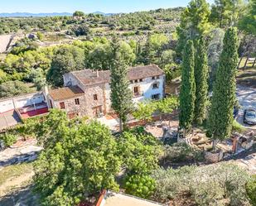
[[[197,205],[249,205],[245,185],[246,171],[238,165],[220,163],[203,167],[186,166],[173,170],[156,170],[154,197],[168,201],[181,194],[191,194]],[[254,193],[253,193],[254,194]]]

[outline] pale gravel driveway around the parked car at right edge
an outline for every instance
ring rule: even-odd
[[[241,109],[239,109],[239,114],[237,117],[237,122],[239,122],[244,127],[256,130],[256,125],[250,126],[248,124],[244,124],[244,109],[256,109],[256,89],[237,85],[236,95],[241,105]]]

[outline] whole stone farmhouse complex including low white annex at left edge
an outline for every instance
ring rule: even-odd
[[[0,132],[23,119],[44,115],[48,108],[64,109],[75,116],[102,117],[113,113],[110,100],[110,71],[84,69],[64,74],[65,87],[12,98],[0,98]],[[133,102],[161,99],[165,94],[165,74],[157,65],[132,67],[128,70]]]

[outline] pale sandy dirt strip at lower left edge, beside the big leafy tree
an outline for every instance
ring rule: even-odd
[[[26,186],[34,175],[34,171],[29,173],[21,174],[17,177],[12,177],[6,180],[3,184],[0,185],[0,198],[10,193],[13,189],[18,189]]]

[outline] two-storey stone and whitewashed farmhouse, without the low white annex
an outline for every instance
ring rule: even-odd
[[[46,91],[49,108],[65,109],[69,117],[101,117],[113,113],[110,100],[110,71],[84,69],[63,75],[64,88]],[[165,74],[157,65],[128,69],[133,102],[161,99]]]

